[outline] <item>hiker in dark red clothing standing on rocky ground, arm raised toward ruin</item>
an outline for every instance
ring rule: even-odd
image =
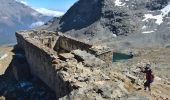
[[[146,64],[144,69],[142,67],[140,67],[141,72],[146,74],[146,82],[144,83],[144,89],[146,90],[146,88],[148,87],[149,91],[151,91],[150,85],[154,80],[154,75],[153,75],[152,69],[150,67],[151,67],[150,64]]]

